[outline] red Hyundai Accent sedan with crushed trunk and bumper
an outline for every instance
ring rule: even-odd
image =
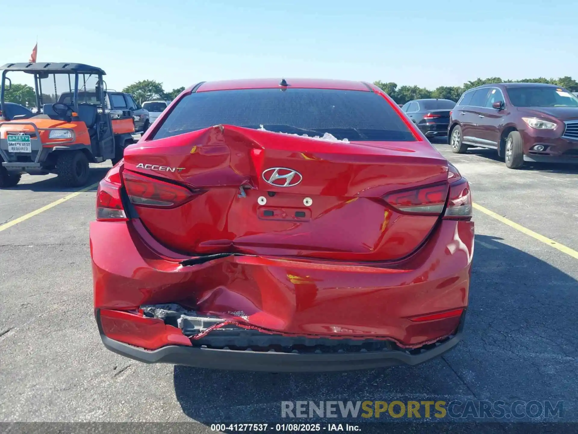
[[[217,369],[416,365],[461,339],[466,179],[373,84],[203,82],[101,181],[105,347]]]

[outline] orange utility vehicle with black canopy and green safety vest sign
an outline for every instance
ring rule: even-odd
[[[132,116],[111,119],[106,112],[102,69],[79,63],[9,63],[0,71],[0,187],[16,185],[23,173],[55,173],[65,186],[86,185],[89,163],[110,159],[114,164],[134,143]],[[8,119],[4,100],[12,83],[7,75],[13,72],[32,76],[41,113]]]

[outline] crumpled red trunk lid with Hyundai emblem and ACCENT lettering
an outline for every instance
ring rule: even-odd
[[[428,237],[437,215],[410,215],[383,196],[447,182],[425,142],[343,142],[216,126],[129,146],[124,170],[194,190],[172,209],[136,205],[166,247],[187,255],[244,253],[395,260]]]

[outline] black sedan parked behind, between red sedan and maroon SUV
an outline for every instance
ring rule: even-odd
[[[413,100],[402,106],[402,111],[420,128],[427,138],[445,137],[450,123],[450,110],[455,106],[451,100],[428,98]]]

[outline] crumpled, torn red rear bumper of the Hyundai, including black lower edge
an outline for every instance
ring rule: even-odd
[[[104,330],[99,324],[112,351],[147,363],[222,369],[283,370],[279,361],[287,370],[363,369],[415,365],[457,344],[460,317],[414,318],[468,306],[473,223],[442,220],[414,255],[390,264],[228,256],[181,266],[135,220],[92,222],[90,247],[94,307],[113,318]],[[346,354],[253,354],[249,344],[237,345],[247,351],[201,348],[180,328],[138,316],[140,307],[163,303],[295,342],[311,337],[340,345],[347,339],[392,345],[383,352]]]

